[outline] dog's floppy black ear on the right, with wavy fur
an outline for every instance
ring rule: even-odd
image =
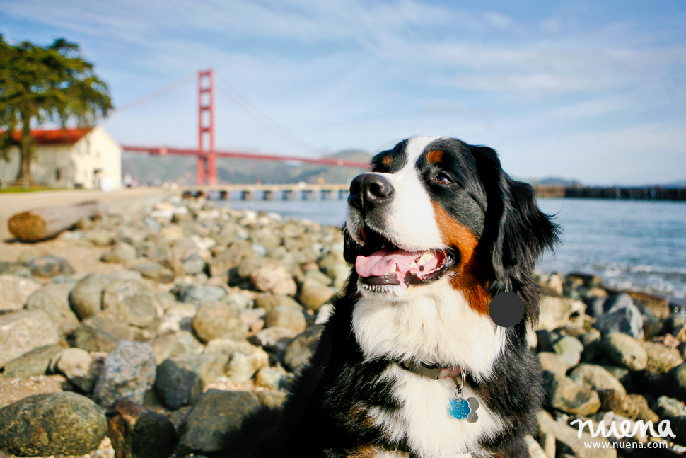
[[[473,151],[487,193],[486,227],[495,229],[484,234],[495,280],[499,289],[512,291],[530,281],[527,277],[537,259],[559,242],[560,229],[550,215],[541,212],[533,188],[502,170],[493,149],[473,147]]]

